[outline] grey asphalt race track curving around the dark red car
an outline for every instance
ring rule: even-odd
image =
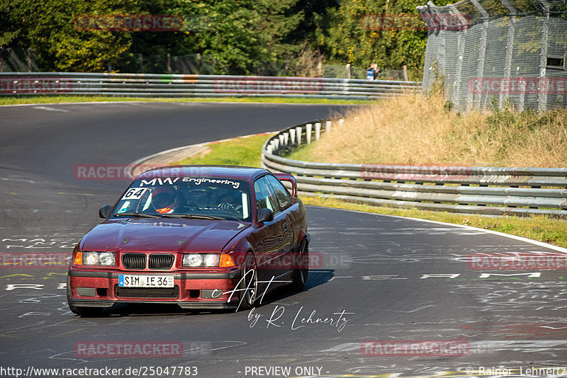
[[[467,263],[473,253],[565,252],[476,229],[309,207],[310,253],[318,260],[305,291],[279,290],[238,313],[117,305],[109,316],[82,318],[67,308],[66,265],[10,264],[18,254],[70,256],[100,221],[99,207],[128,185],[78,180],[77,164],[129,164],[164,149],[280,130],[344,109],[0,108],[0,375],[565,377],[564,270],[479,270]],[[140,345],[152,348],[133,353]],[[543,367],[563,369],[532,370]],[[50,368],[60,370],[40,370]]]

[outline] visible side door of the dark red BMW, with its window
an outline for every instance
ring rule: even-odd
[[[284,252],[283,228],[286,215],[280,212],[279,202],[268,181],[268,176],[262,176],[254,181],[257,210],[267,208],[274,212],[271,222],[264,222],[254,237],[254,250],[257,255],[259,280],[270,280],[285,272],[279,256]]]

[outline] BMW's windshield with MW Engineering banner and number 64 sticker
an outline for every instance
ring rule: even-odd
[[[136,180],[111,218],[163,217],[252,222],[246,181],[218,177],[156,177]]]

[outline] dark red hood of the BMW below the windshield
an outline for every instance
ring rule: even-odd
[[[91,229],[83,251],[219,252],[247,222],[205,219],[120,219]]]

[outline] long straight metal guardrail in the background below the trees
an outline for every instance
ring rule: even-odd
[[[181,74],[0,73],[0,96],[390,98],[421,91],[414,81]]]

